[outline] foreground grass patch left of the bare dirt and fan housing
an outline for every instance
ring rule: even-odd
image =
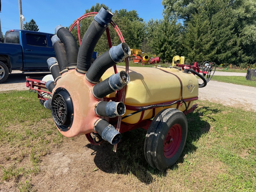
[[[26,191],[31,187],[31,177],[39,172],[41,158],[62,140],[51,111],[39,104],[36,94],[0,94],[0,162],[5,162],[4,166],[0,164],[2,180],[14,181],[20,191]]]

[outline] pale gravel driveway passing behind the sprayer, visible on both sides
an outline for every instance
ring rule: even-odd
[[[0,92],[9,90],[28,90],[26,87],[26,76],[33,79],[42,79],[46,74],[22,74],[20,71],[13,71],[8,79],[0,84]],[[246,76],[246,73],[231,73],[216,71],[214,75],[221,76]],[[256,88],[244,85],[210,81],[206,87],[199,88],[199,99],[222,103],[226,106],[243,108],[256,111],[253,103],[256,101]],[[254,102],[253,102],[254,101]]]

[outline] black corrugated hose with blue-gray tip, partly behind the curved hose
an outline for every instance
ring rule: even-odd
[[[68,71],[68,61],[65,51],[64,44],[60,41],[60,38],[57,35],[52,36],[52,46],[54,48],[56,58],[58,60],[60,73],[65,73]]]

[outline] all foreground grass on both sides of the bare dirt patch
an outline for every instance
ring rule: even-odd
[[[256,191],[256,113],[196,103],[199,107],[187,115],[185,148],[171,169],[160,172],[147,164],[146,131],[136,129],[122,134],[117,153],[108,154],[113,148],[108,143],[98,146],[102,151],[94,158],[100,164],[92,165],[91,171],[125,175],[122,182],[132,191]],[[36,190],[31,180],[41,171],[43,156],[64,140],[50,110],[39,105],[36,94],[0,93],[0,123],[0,185],[14,182],[17,190]]]

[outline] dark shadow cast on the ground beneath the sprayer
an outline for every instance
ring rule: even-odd
[[[207,113],[205,114],[205,112]],[[210,124],[203,117],[207,116],[209,119],[208,114],[218,112],[218,110],[203,107],[187,115],[188,136],[185,148],[177,163],[182,163],[186,154],[195,152],[197,148],[193,142],[210,130]],[[91,155],[95,155],[94,162],[101,171],[129,175],[130,177],[136,176],[141,182],[150,184],[154,182],[152,175],[163,177],[166,175],[166,171],[158,171],[148,165],[144,156],[146,133],[147,131],[143,129],[123,133],[116,153],[113,152],[113,146],[108,142],[101,145],[87,144],[86,147],[94,150]],[[171,167],[171,170],[178,168],[177,163]]]

